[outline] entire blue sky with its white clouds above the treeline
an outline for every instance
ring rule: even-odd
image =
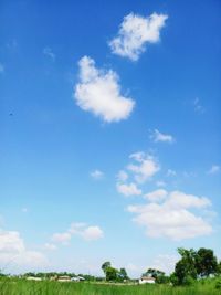
[[[0,6],[0,268],[221,257],[220,2]]]

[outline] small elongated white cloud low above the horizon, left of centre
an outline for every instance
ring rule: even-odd
[[[72,236],[78,235],[85,241],[95,241],[104,236],[103,230],[97,225],[87,225],[83,222],[72,223],[63,233],[54,233],[51,240],[55,243],[67,245]]]

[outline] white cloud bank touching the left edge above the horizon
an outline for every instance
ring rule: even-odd
[[[15,270],[33,270],[48,265],[45,255],[27,249],[23,239],[17,231],[0,230],[0,264]]]

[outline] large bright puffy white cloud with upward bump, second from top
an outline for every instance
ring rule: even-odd
[[[112,70],[97,69],[88,56],[82,57],[78,66],[80,83],[74,91],[76,104],[107,123],[126,119],[135,102],[120,94],[117,74]]]

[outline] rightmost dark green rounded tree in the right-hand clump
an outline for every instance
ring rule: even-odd
[[[218,273],[218,260],[211,249],[201,247],[198,250],[196,267],[198,275],[201,277]]]

